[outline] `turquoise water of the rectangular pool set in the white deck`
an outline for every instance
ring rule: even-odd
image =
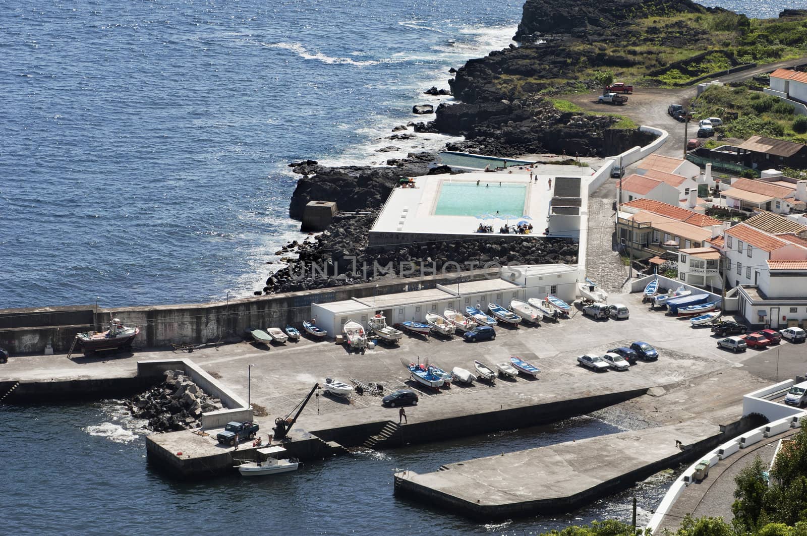
[[[487,184],[487,187],[486,187]],[[480,216],[482,214],[524,214],[526,184],[512,184],[499,181],[482,182],[443,182],[440,199],[437,199],[435,216]]]

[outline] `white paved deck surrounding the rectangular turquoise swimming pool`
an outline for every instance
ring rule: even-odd
[[[475,172],[465,174],[441,174],[425,175],[415,177],[416,187],[395,188],[392,191],[387,203],[385,203],[381,214],[375,220],[373,232],[422,232],[435,234],[470,234],[475,235],[480,223],[491,225],[494,234],[505,223],[516,224],[523,218],[514,220],[479,220],[475,216],[436,216],[434,214],[437,201],[440,198],[441,186],[443,182],[462,182],[475,184],[479,181],[479,195],[484,195],[487,189],[498,188],[499,182],[516,183],[527,185],[525,195],[525,206],[523,214],[515,216],[529,216],[528,221],[533,224],[532,236],[544,236],[544,229],[547,227],[550,210],[550,200],[552,199],[552,189],[550,179],[553,181],[557,177],[590,177],[594,170],[589,167],[578,167],[576,165],[534,165],[532,168],[533,179],[530,180],[528,168],[519,169],[509,167],[507,170],[496,172]],[[537,177],[537,182],[535,178]],[[486,188],[487,185],[487,188]],[[488,207],[487,212],[495,214],[496,207]],[[490,236],[490,235],[487,235]],[[531,235],[524,235],[529,237]]]

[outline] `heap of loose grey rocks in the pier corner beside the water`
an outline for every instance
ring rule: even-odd
[[[165,381],[127,400],[132,416],[148,419],[155,432],[199,428],[202,412],[221,409],[221,400],[207,396],[182,371],[165,371]]]

